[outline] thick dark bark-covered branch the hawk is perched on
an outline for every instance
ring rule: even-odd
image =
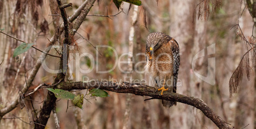
[[[149,87],[147,85],[142,85],[139,83],[127,83],[127,82],[100,82],[100,81],[92,81],[92,82],[62,82],[57,85],[57,89],[62,90],[82,90],[82,89],[103,89],[111,92],[118,93],[131,93],[135,95],[141,96],[150,96],[155,99],[164,99],[167,101],[176,101],[181,102],[183,104],[188,104],[190,106],[194,106],[197,109],[200,109],[205,116],[210,118],[218,128],[231,128],[220,116],[218,116],[203,100],[187,97],[185,95],[176,94],[176,93],[164,93],[160,95],[157,89],[154,87]],[[173,107],[174,108],[174,107]]]

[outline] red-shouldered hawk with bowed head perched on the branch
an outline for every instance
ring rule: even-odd
[[[146,70],[153,76],[158,90],[162,93],[176,93],[178,71],[180,68],[180,49],[178,42],[167,34],[154,32],[146,39]],[[173,101],[164,101],[166,107],[176,105]]]

